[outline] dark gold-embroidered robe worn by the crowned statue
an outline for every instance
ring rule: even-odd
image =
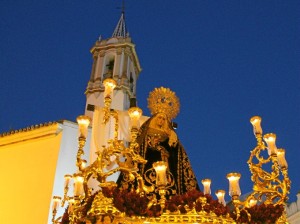
[[[193,189],[199,190],[195,174],[183,146],[179,141],[175,146],[170,146],[169,137],[165,132],[149,127],[152,119],[153,117],[141,126],[137,137],[139,154],[147,160],[146,164],[139,165],[139,174],[143,177],[145,185],[155,185],[156,173],[153,163],[166,161],[168,163],[167,196],[183,194]],[[173,130],[171,124],[168,125]],[[135,186],[134,183],[127,181],[126,174],[123,173],[118,179],[118,185],[129,188]]]

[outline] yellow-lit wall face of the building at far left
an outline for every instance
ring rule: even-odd
[[[0,223],[47,223],[61,138],[58,123],[0,137]]]

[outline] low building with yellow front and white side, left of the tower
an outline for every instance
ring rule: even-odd
[[[77,138],[78,126],[70,121],[0,136],[0,223],[51,223],[52,198],[63,196],[64,175],[77,171]],[[87,162],[89,141],[90,133]],[[71,186],[69,195],[72,191]],[[60,208],[56,217],[63,212]]]

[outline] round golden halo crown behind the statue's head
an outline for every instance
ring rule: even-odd
[[[148,108],[152,115],[165,113],[172,120],[179,113],[180,103],[175,92],[169,88],[155,88],[148,97]]]

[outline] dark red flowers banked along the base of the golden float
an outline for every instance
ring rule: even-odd
[[[93,200],[98,192],[93,194],[89,199],[82,204],[84,205],[82,213],[87,215],[87,212],[92,206]],[[105,197],[113,198],[114,206],[127,216],[144,216],[144,217],[159,217],[161,213],[161,206],[159,204],[150,204],[150,200],[143,194],[135,191],[121,190],[119,188],[103,188],[102,193]],[[219,216],[228,216],[237,223],[251,223],[251,224],[269,224],[276,223],[284,211],[283,205],[255,205],[245,210],[240,211],[240,216],[237,218],[235,211],[230,211],[228,206],[224,206],[214,200],[211,195],[204,195],[203,192],[192,190],[182,195],[175,195],[166,201],[165,209],[175,214],[187,214],[189,211],[206,213],[214,213]],[[249,222],[248,214],[251,216]],[[69,216],[68,209],[62,217],[61,224],[68,224]]]

